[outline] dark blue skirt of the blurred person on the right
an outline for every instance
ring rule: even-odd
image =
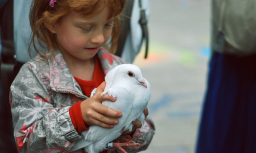
[[[213,53],[196,152],[256,152],[256,54]]]

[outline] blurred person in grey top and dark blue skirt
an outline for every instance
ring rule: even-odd
[[[212,0],[197,153],[256,152],[256,1]]]

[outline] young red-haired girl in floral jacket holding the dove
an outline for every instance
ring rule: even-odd
[[[17,149],[21,152],[65,152],[90,125],[113,128],[121,112],[101,104],[106,73],[125,61],[103,47],[111,37],[116,48],[118,16],[125,0],[34,0],[30,22],[38,55],[24,64],[11,85],[11,111]],[[37,42],[46,50],[38,50]],[[110,49],[110,50],[111,50]],[[97,88],[92,96],[91,92]],[[148,110],[144,111],[145,116]],[[130,135],[145,149],[154,130],[148,121],[134,122]],[[129,132],[125,131],[123,134]],[[116,149],[117,151],[117,149]]]

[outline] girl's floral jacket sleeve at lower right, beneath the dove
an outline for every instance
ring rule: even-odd
[[[139,145],[131,145],[131,146],[121,146],[121,148],[113,148],[115,149],[113,152],[115,153],[121,153],[123,151],[121,151],[121,149],[124,149],[126,152],[129,153],[134,153],[134,152],[139,152],[139,151],[143,151],[146,150],[153,138],[155,132],[155,127],[154,127],[154,123],[151,119],[149,118],[145,118],[144,122],[142,123],[141,128],[138,128],[135,130],[135,132],[133,133],[132,137],[131,137],[131,142],[127,142],[126,138],[122,138],[119,137],[117,138],[114,142],[119,142],[119,143],[136,143]],[[130,141],[130,140],[128,140]],[[110,149],[111,151],[111,149]]]

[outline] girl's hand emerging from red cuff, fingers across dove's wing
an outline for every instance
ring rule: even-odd
[[[113,128],[118,124],[118,119],[122,116],[122,113],[110,109],[107,106],[101,104],[102,101],[116,101],[116,98],[110,97],[108,94],[101,96],[101,93],[105,89],[106,82],[102,82],[96,90],[96,93],[81,102],[81,112],[86,125],[98,125],[104,128]]]

